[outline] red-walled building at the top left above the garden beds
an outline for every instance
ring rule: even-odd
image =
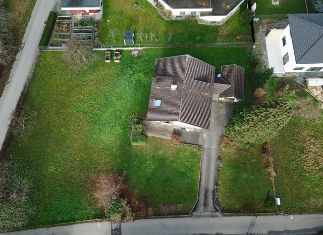
[[[100,11],[101,0],[63,0],[61,9],[72,15],[93,15]]]

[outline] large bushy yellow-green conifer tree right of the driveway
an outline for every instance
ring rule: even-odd
[[[237,146],[255,148],[274,138],[293,114],[290,102],[271,102],[244,109],[229,121],[226,134]]]

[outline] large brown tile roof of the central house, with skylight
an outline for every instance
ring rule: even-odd
[[[181,121],[209,129],[214,76],[214,66],[189,55],[157,59],[147,121]],[[162,100],[161,107],[154,107],[155,100]]]

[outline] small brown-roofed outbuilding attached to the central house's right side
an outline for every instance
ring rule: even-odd
[[[244,68],[238,65],[221,66],[221,77],[214,80],[213,99],[243,100]],[[216,100],[216,99],[215,99]]]

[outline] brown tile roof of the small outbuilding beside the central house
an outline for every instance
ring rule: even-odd
[[[221,78],[232,85],[220,93],[220,98],[234,97],[243,100],[244,68],[238,65],[221,66]]]

